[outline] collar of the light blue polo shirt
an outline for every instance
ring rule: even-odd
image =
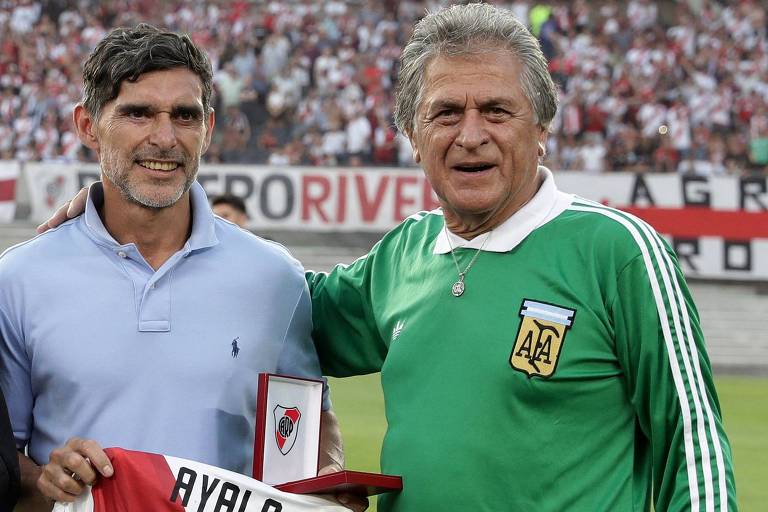
[[[212,247],[219,243],[216,237],[216,227],[213,217],[213,211],[208,204],[208,196],[203,187],[195,181],[189,189],[189,196],[192,201],[192,233],[185,244],[185,249],[194,251]],[[109,234],[104,227],[104,223],[99,217],[99,211],[96,205],[104,203],[104,188],[101,182],[97,181],[88,188],[88,201],[85,204],[85,225],[88,232],[97,241],[109,246],[120,246],[120,244]]]

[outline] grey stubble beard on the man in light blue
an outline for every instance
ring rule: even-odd
[[[175,190],[168,192],[167,187],[153,188],[151,184],[144,187],[149,190],[142,190],[142,186],[131,180],[131,166],[139,159],[150,159],[152,157],[136,158],[135,155],[122,157],[118,150],[110,150],[101,154],[101,172],[120,191],[120,195],[127,201],[151,210],[160,210],[173,206],[179,199],[192,187],[197,175],[198,163],[190,165],[189,160],[184,158],[184,182]],[[154,158],[168,158],[165,155],[154,155]],[[138,165],[138,164],[137,164]],[[153,193],[154,192],[154,193]]]

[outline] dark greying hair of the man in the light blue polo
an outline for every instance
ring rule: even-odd
[[[203,50],[187,35],[141,23],[112,30],[96,45],[83,66],[83,106],[95,119],[120,94],[123,81],[135,82],[150,71],[187,68],[203,89],[203,111],[211,111],[213,71]]]

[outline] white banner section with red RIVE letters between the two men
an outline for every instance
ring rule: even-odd
[[[254,229],[383,233],[437,207],[417,169],[208,166],[198,179],[209,194],[244,197]]]

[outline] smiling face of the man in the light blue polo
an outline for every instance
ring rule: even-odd
[[[158,209],[175,204],[195,180],[213,114],[204,115],[200,78],[174,68],[126,80],[92,122],[105,188]]]

